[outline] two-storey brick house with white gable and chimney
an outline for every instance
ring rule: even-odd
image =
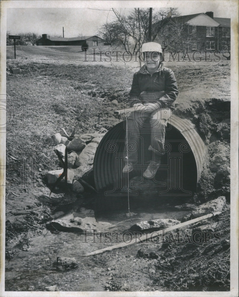
[[[170,47],[170,40],[165,42],[167,34],[170,35],[171,31],[177,26],[182,28],[182,25],[185,29],[181,37],[184,38],[188,51],[222,49],[230,51],[230,18],[214,18],[213,12],[164,19],[157,24],[161,29],[157,40],[163,46]],[[164,30],[166,26],[167,30]],[[177,40],[175,34],[174,39]]]

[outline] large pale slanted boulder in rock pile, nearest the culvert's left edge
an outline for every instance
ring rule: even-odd
[[[85,166],[85,170],[87,171],[91,168],[91,166],[93,166],[93,161],[94,161],[94,155],[96,152],[98,144],[97,143],[89,143],[87,144],[87,146],[83,149],[83,151],[81,151],[81,153],[79,154],[79,156],[76,159],[76,166]]]

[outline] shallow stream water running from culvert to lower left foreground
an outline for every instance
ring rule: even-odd
[[[190,211],[162,207],[157,209],[153,206],[133,207],[131,211],[135,213],[132,217],[126,217],[126,211],[119,209],[114,212],[97,214],[95,219],[114,224],[118,231],[124,231],[143,220],[154,218],[180,220],[190,213]],[[73,216],[94,217],[94,211],[80,208],[73,213]],[[99,241],[94,243],[91,236],[88,239],[89,241],[86,242],[84,234],[73,232],[52,234],[44,229],[42,235],[31,238],[32,246],[29,251],[19,251],[10,261],[6,261],[5,290],[43,291],[47,286],[57,285],[57,290],[60,291],[104,291],[110,275],[107,267],[112,265],[112,261],[118,260],[119,255],[120,259],[135,257],[140,248],[139,244],[135,244],[107,252],[107,255],[104,253],[93,257],[83,257],[87,252],[113,244],[100,243]],[[54,270],[52,264],[56,261],[57,256],[74,257],[79,263],[78,267],[63,272]]]

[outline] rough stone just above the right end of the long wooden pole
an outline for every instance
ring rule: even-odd
[[[226,204],[225,196],[220,196],[214,200],[211,200],[199,205],[194,211],[191,212],[191,214],[188,214],[187,216],[185,216],[182,219],[182,221],[185,222],[190,219],[202,217],[206,214],[214,213],[216,211],[222,211],[225,204]]]

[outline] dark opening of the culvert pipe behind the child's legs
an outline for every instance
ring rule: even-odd
[[[174,125],[167,125],[165,146],[168,151],[161,159],[154,181],[142,178],[145,169],[133,170],[129,174],[129,179],[132,181],[133,178],[134,182],[130,187],[131,207],[141,204],[151,207],[152,203],[155,206],[161,205],[163,201],[171,201],[172,198],[177,204],[177,201],[185,202],[194,195],[197,191],[198,167],[201,167],[197,162],[201,156],[195,156],[197,151],[193,153],[191,146],[194,145],[193,138],[200,137],[195,130],[193,134],[192,131],[186,134],[188,139]],[[148,150],[150,133],[142,135],[139,159],[142,157],[140,164],[146,165],[152,157],[152,152]],[[121,122],[105,134],[95,154],[94,180],[100,192],[97,196],[97,211],[112,211],[122,207],[127,209],[127,175],[121,173],[125,156],[125,129],[124,122]]]

